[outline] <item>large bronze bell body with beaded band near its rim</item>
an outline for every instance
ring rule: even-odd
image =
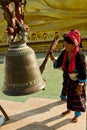
[[[21,96],[45,88],[36,55],[25,42],[14,43],[5,54],[3,93]]]

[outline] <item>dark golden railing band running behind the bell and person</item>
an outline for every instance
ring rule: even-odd
[[[52,40],[43,40],[43,41],[29,41],[27,45],[34,49],[35,52],[47,52],[52,43]],[[87,38],[82,38],[82,49],[87,51]],[[0,44],[0,54],[4,54],[9,48],[9,44]],[[60,51],[63,48],[63,40],[61,39],[55,51]]]

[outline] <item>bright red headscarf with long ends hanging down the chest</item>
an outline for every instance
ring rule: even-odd
[[[79,31],[75,29],[75,30],[67,32],[64,35],[65,40],[66,38],[69,38],[71,42],[75,45],[75,49],[73,50],[73,53],[72,53],[72,59],[71,59],[71,62],[69,63],[69,68],[68,68],[68,72],[74,72],[75,71],[75,57],[79,51],[79,46],[81,44],[81,36],[80,36]],[[65,51],[62,68],[65,68],[66,56],[67,56],[67,52]]]

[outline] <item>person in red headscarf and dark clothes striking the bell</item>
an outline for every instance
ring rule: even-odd
[[[81,37],[78,30],[71,30],[63,35],[64,49],[57,60],[50,53],[54,68],[62,67],[63,85],[67,96],[67,110],[62,115],[74,111],[73,122],[78,121],[81,112],[86,110],[86,63],[85,56],[79,52]]]

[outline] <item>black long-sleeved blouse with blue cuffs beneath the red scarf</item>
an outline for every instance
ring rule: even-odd
[[[65,49],[62,50],[61,54],[57,58],[57,60],[54,62],[53,67],[59,68],[62,67],[62,62],[64,58]],[[75,70],[73,73],[68,72],[68,66],[69,61],[66,60],[65,68],[63,69],[64,72],[67,72],[69,75],[69,78],[73,81],[79,81],[79,82],[87,82],[87,70],[86,70],[86,59],[84,54],[78,52],[76,54],[75,58]]]

